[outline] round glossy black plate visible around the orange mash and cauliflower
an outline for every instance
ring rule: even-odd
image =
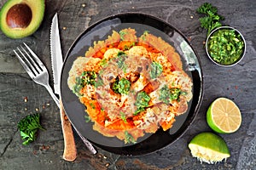
[[[146,134],[137,144],[124,144],[117,138],[105,137],[92,129],[92,122],[85,122],[85,107],[79,102],[78,97],[67,86],[68,72],[73,61],[78,56],[84,56],[85,52],[93,42],[105,40],[112,31],[124,28],[134,28],[138,35],[143,31],[149,31],[154,36],[161,37],[176,48],[183,61],[183,70],[187,72],[193,80],[193,99],[189,102],[189,109],[182,116],[176,117],[173,127],[164,132],[161,128],[154,134]],[[67,116],[79,132],[89,139],[92,144],[120,155],[143,155],[155,150],[160,150],[168,144],[172,144],[180,138],[189,125],[193,122],[196,113],[201,105],[202,98],[202,73],[201,65],[190,46],[189,42],[180,31],[163,20],[148,14],[116,14],[101,20],[85,30],[69,49],[61,73],[61,99]]]

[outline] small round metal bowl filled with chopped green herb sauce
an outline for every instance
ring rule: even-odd
[[[218,27],[207,37],[207,55],[217,65],[236,65],[243,58],[245,48],[241,33],[230,26]]]

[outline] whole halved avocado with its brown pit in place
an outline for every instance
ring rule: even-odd
[[[44,8],[44,0],[9,0],[0,11],[0,29],[11,38],[30,36],[41,25]]]

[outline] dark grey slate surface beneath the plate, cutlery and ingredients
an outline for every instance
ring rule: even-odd
[[[5,2],[0,0],[1,8]],[[203,46],[206,31],[201,29],[199,15],[195,13],[195,9],[204,2],[46,0],[44,21],[31,37],[13,40],[0,32],[0,169],[256,169],[256,1],[207,1],[217,6],[218,13],[225,16],[224,25],[236,27],[247,41],[244,59],[239,65],[230,68],[219,67],[207,59]],[[152,14],[182,31],[201,59],[204,76],[201,109],[183,137],[152,154],[126,157],[101,149],[92,155],[75,133],[78,158],[73,162],[63,161],[58,108],[46,89],[26,75],[12,51],[20,42],[26,42],[51,71],[49,25],[55,12],[59,14],[63,54],[67,54],[80,32],[110,14]],[[52,75],[50,78],[52,80]],[[50,81],[50,84],[53,82]],[[215,165],[201,164],[190,155],[187,145],[195,134],[211,131],[206,122],[207,107],[213,99],[221,96],[233,99],[241,108],[241,128],[236,133],[221,135],[230,148],[231,156],[227,161]],[[39,132],[34,143],[24,146],[16,124],[21,117],[35,112],[42,115],[42,124],[46,130]]]

